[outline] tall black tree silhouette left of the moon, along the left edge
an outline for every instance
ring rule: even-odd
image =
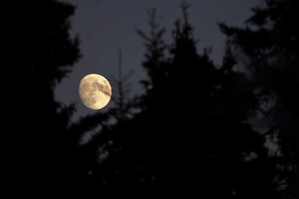
[[[54,99],[55,86],[81,57],[79,38],[68,33],[75,7],[57,1],[18,6],[7,6],[15,9],[6,16],[9,26],[1,35],[1,66],[14,77],[7,93],[10,146],[6,149],[13,181],[24,188],[48,189],[70,181],[81,136],[68,129],[74,104]]]

